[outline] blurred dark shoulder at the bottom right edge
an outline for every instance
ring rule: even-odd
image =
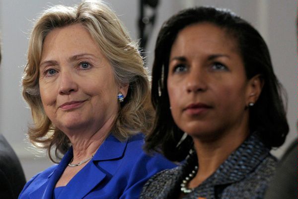
[[[298,142],[297,139],[283,155],[264,199],[298,199]]]

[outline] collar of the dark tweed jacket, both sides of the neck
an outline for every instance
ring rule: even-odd
[[[214,199],[214,196],[220,195],[217,192],[223,191],[227,186],[245,179],[247,175],[254,172],[269,154],[270,149],[264,146],[258,136],[256,134],[250,135],[228,156],[213,175],[195,188],[192,194],[186,195],[183,199],[197,199],[198,197]],[[180,184],[194,168],[195,162],[197,163],[196,156],[193,153],[183,165],[166,171],[171,177],[163,182],[163,185],[158,185],[159,188],[164,187],[158,199],[175,198],[180,194]],[[149,183],[155,183],[154,179]]]

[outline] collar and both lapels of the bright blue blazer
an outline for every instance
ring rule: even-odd
[[[98,167],[98,162],[121,159],[126,146],[127,141],[121,142],[110,134],[95,153],[92,162],[89,162],[74,176],[64,188],[59,198],[81,199],[87,195],[106,176]],[[55,185],[72,158],[73,148],[71,147],[57,168],[48,176],[48,181],[29,195],[30,199],[52,199]]]

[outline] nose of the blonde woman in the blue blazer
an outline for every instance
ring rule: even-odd
[[[72,92],[76,92],[78,89],[77,83],[70,72],[60,73],[60,85],[59,94],[60,95],[70,95]]]

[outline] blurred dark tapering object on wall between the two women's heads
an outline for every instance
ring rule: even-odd
[[[139,38],[140,47],[143,51],[155,22],[157,5],[158,0],[140,0]]]

